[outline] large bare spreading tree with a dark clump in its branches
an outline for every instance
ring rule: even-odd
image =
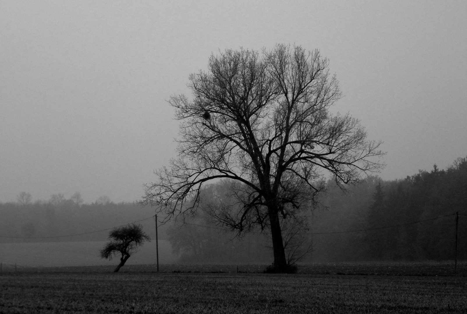
[[[269,231],[274,271],[289,272],[281,221],[314,207],[326,173],[347,184],[379,170],[380,142],[368,141],[349,114],[329,112],[341,92],[318,50],[278,44],[262,57],[226,50],[208,69],[190,75],[192,100],[170,98],[182,121],[179,158],[156,171],[144,202],[168,219],[192,214],[202,186],[228,178],[238,202],[212,216],[239,233],[254,225]]]

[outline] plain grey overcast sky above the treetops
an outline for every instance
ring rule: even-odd
[[[320,49],[383,179],[467,155],[467,1],[0,1],[0,201],[134,201],[219,49]]]

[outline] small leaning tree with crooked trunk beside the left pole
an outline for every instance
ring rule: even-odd
[[[110,231],[109,238],[113,240],[100,250],[100,257],[111,260],[114,254],[121,254],[120,264],[114,272],[118,272],[120,267],[125,265],[138,246],[142,245],[144,241],[150,240],[149,236],[142,230],[141,224],[134,223],[113,229]]]

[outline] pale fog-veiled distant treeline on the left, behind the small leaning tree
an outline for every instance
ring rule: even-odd
[[[116,204],[105,197],[99,200],[92,204],[81,204],[80,198],[65,199],[63,195],[57,194],[52,195],[47,202],[32,203],[30,195],[23,192],[18,195],[18,202],[0,203],[0,242],[106,240],[109,231],[73,237],[57,236],[112,228],[154,215],[154,209],[142,207],[137,202]],[[149,235],[154,233],[154,219],[141,223],[147,226]]]

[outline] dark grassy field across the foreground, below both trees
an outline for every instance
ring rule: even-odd
[[[467,313],[467,277],[4,272],[0,313]]]

